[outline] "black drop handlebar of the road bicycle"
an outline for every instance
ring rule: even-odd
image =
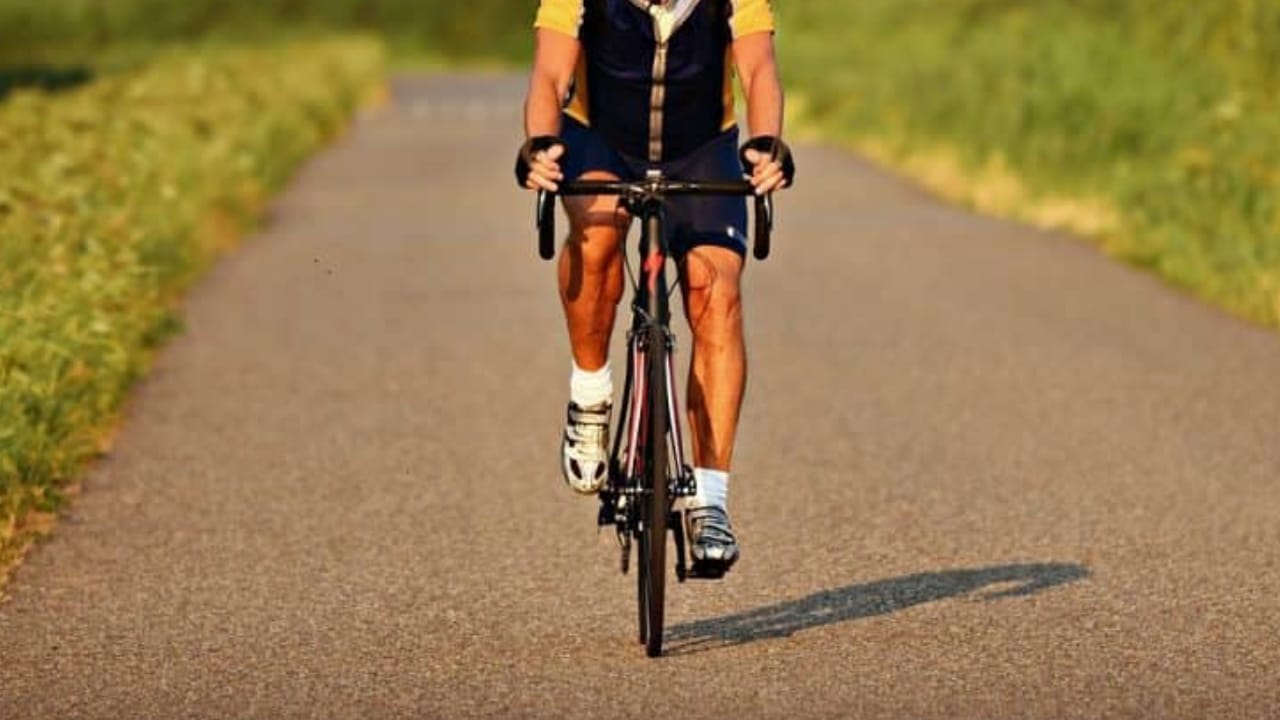
[[[753,196],[755,197],[755,240],[751,254],[756,260],[769,256],[773,231],[773,196],[755,195],[755,187],[746,181],[692,182],[664,178],[640,181],[576,181],[561,183],[558,192],[538,191],[538,254],[543,260],[556,256],[556,195],[613,195],[631,201],[660,201],[673,195],[700,196]]]

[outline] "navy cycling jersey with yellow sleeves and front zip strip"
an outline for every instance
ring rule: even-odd
[[[582,45],[564,113],[659,163],[733,127],[730,45],[772,32],[773,12],[769,0],[541,0],[534,26]]]

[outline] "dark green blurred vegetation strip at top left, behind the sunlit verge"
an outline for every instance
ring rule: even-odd
[[[402,55],[525,60],[535,0],[0,0],[0,65],[179,41],[379,33]]]

